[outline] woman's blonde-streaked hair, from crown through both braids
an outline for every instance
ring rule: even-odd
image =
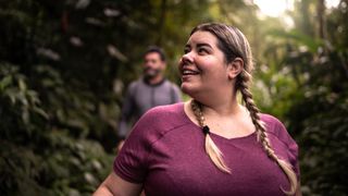
[[[243,101],[246,108],[248,109],[251,121],[256,127],[258,142],[262,144],[262,147],[266,155],[273,161],[275,161],[277,166],[283,170],[290,183],[289,191],[284,191],[281,187],[282,191],[286,195],[294,195],[298,185],[295,171],[288,162],[277,157],[277,155],[274,152],[274,149],[272,148],[272,145],[268,137],[264,123],[260,119],[260,110],[256,106],[252,99],[252,94],[249,89],[249,83],[252,79],[251,72],[253,70],[253,62],[251,49],[247,38],[238,28],[217,23],[207,23],[198,25],[191,30],[190,35],[195,34],[196,32],[209,32],[212,35],[214,35],[219,40],[217,47],[223,51],[226,62],[232,62],[237,57],[243,59],[244,69],[236,77],[234,90],[236,93],[239,91],[241,94]],[[219,147],[214,144],[214,142],[211,139],[209,135],[209,128],[207,130],[204,124],[201,105],[198,101],[192,100],[191,109],[199,122],[199,125],[203,127],[203,131],[206,128],[206,152],[210,157],[211,161],[221,171],[231,173],[231,169],[226,166],[226,163],[223,160],[222,151],[219,149]]]

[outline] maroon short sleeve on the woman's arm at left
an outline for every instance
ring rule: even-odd
[[[130,183],[142,183],[148,171],[147,158],[151,150],[151,112],[144,114],[130,131],[113,163],[113,171]]]

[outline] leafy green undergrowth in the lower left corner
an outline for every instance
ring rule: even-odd
[[[2,63],[0,76],[1,193],[91,193],[110,172],[112,156],[55,123],[15,65]]]

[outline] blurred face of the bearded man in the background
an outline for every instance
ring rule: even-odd
[[[144,74],[147,78],[153,78],[159,74],[162,74],[165,69],[165,62],[161,60],[161,57],[157,52],[150,52],[145,56]]]

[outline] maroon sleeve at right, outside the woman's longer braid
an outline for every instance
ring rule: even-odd
[[[297,179],[300,179],[300,169],[299,169],[299,161],[298,161],[298,151],[299,147],[297,143],[293,139],[293,137],[287,132],[286,127],[282,122],[278,121],[277,123],[277,134],[278,138],[287,145],[288,151],[288,159],[289,163],[293,166],[293,169],[297,175]]]

